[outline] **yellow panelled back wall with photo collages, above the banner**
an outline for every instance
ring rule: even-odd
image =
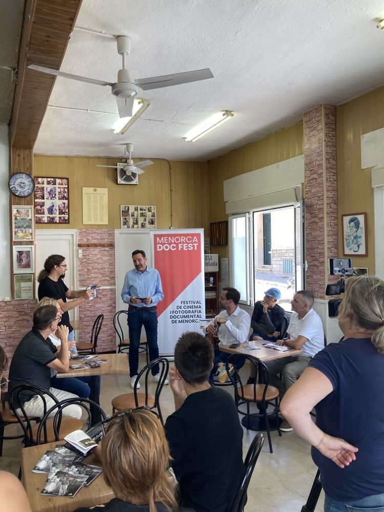
[[[36,224],[37,229],[119,229],[120,204],[155,205],[157,228],[203,227],[209,236],[207,162],[153,160],[138,185],[117,185],[117,159],[35,155],[34,176],[69,178],[69,224]],[[82,187],[108,188],[108,225],[82,223]],[[172,190],[172,192],[170,191]],[[172,201],[171,201],[172,199]],[[172,209],[172,220],[171,220]]]

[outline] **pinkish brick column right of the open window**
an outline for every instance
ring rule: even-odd
[[[328,258],[337,258],[336,109],[304,113],[306,288],[325,299]]]

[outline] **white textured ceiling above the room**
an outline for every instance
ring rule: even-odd
[[[127,67],[146,78],[209,67],[215,78],[139,93],[151,101],[126,132],[111,131],[110,89],[57,78],[35,153],[210,160],[384,83],[382,0],[83,0],[76,26],[129,35]],[[115,82],[116,42],[75,30],[61,71]],[[235,117],[194,143],[209,115]],[[108,114],[110,113],[110,114]]]

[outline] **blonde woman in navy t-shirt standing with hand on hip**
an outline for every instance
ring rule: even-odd
[[[345,339],[310,361],[280,409],[312,444],[325,512],[384,512],[384,281],[349,278],[338,323]]]

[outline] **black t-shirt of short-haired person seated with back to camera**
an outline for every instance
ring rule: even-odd
[[[232,512],[244,476],[243,429],[232,396],[193,393],[165,423],[181,504],[196,512]]]

